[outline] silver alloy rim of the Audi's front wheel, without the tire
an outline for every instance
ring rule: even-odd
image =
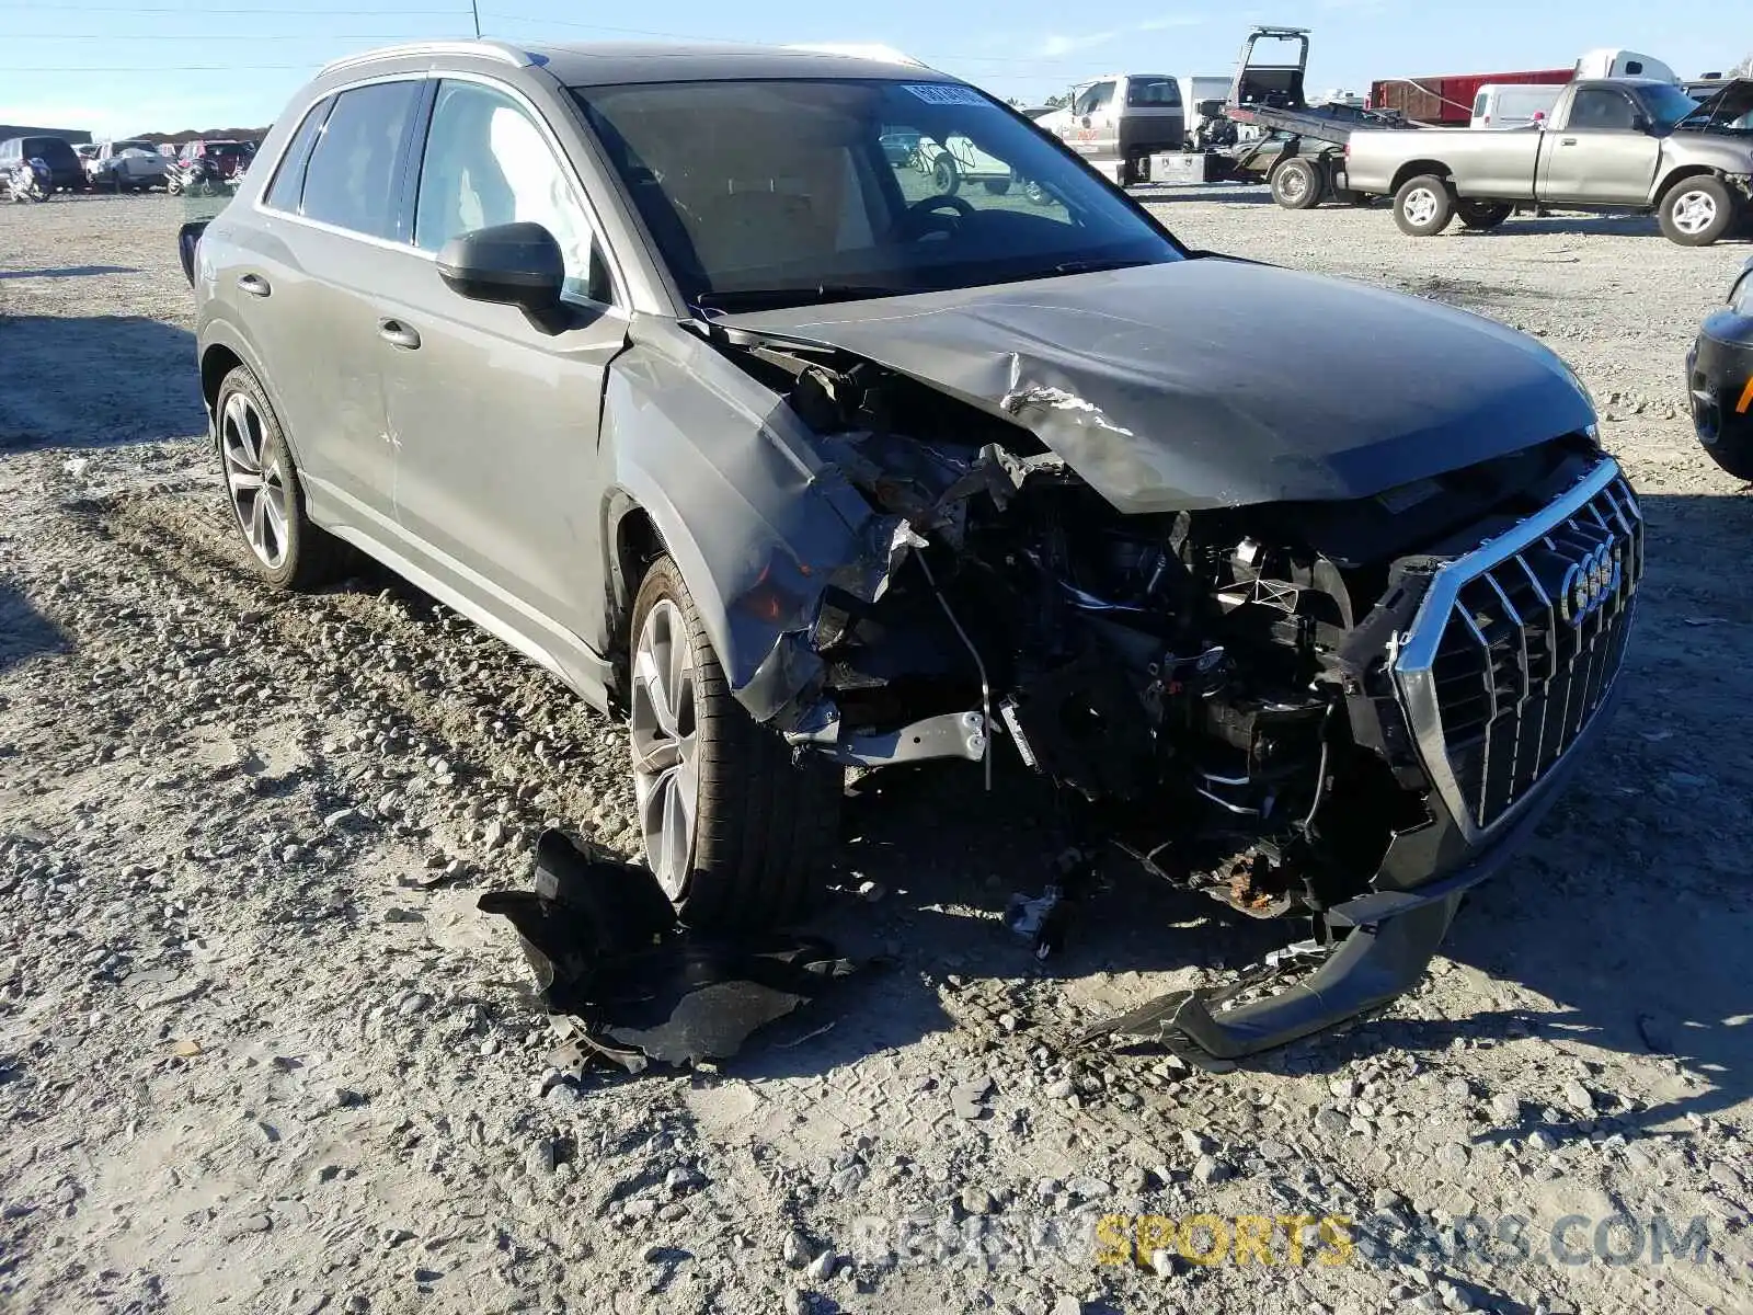
[[[694,726],[694,645],[682,608],[661,598],[633,647],[633,793],[645,861],[671,899],[694,866],[699,738]]]

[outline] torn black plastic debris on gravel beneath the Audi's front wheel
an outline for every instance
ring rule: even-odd
[[[568,1059],[580,1070],[587,1050],[629,1073],[647,1059],[727,1059],[756,1029],[854,971],[813,936],[682,928],[649,868],[563,831],[536,842],[535,891],[491,891],[477,906],[517,928],[542,1003],[564,1017]]]

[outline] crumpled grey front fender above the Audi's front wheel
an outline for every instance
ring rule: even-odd
[[[605,519],[629,500],[645,510],[738,701],[773,721],[819,684],[808,633],[824,591],[869,596],[898,522],[822,459],[784,398],[701,337],[650,317],[631,338],[603,396]],[[612,531],[605,542],[614,552]]]

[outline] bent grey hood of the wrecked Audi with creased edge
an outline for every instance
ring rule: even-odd
[[[719,323],[838,347],[1011,419],[1129,514],[1366,498],[1595,419],[1534,338],[1220,258]]]

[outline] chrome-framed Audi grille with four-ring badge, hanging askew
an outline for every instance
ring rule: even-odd
[[[1643,514],[1604,459],[1443,566],[1395,659],[1425,770],[1462,828],[1506,821],[1606,701],[1643,577]]]

